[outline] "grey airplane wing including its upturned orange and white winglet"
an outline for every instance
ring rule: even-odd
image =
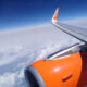
[[[64,33],[66,33],[84,42],[87,42],[87,29],[66,25],[63,23],[59,23],[58,22],[58,13],[59,13],[59,8],[57,8],[55,13],[52,17],[52,24],[55,27],[58,27],[59,29],[63,30]]]

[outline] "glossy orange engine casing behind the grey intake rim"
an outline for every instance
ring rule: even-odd
[[[87,77],[82,75],[83,60],[87,58],[87,52],[78,52],[57,60],[39,60],[32,65],[39,72],[47,87],[84,87]],[[87,75],[87,64],[83,74]],[[80,79],[80,75],[84,79]],[[82,85],[82,86],[80,86]]]

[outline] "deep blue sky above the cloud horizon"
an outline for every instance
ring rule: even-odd
[[[87,0],[0,0],[0,32],[49,24],[57,7],[60,22],[87,17]]]

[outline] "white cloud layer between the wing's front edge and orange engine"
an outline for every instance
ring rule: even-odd
[[[76,42],[52,25],[0,34],[0,87],[25,87],[28,64]]]

